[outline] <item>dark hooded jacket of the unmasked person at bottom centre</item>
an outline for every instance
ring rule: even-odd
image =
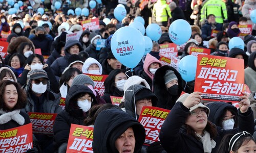
[[[145,140],[144,127],[122,110],[110,109],[100,112],[94,124],[94,153],[117,153],[115,141],[129,127],[133,127],[136,141],[134,153],[138,153]]]

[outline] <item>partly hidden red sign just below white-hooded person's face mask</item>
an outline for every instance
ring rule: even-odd
[[[94,90],[98,91],[99,95],[103,95],[105,91],[104,81],[109,75],[96,75],[96,74],[86,74],[94,81]]]

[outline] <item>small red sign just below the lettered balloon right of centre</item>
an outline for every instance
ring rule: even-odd
[[[159,56],[169,58],[178,57],[177,45],[175,43],[160,44]]]

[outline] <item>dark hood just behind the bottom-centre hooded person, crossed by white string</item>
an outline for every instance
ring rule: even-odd
[[[143,92],[143,93],[147,92],[147,94],[141,95],[141,92]],[[135,97],[134,97],[134,95],[135,95]],[[140,100],[142,98],[149,98],[149,97],[151,97],[152,106],[157,106],[157,96],[150,89],[148,89],[142,85],[130,86],[125,91],[124,107],[125,107],[126,113],[128,113],[129,115],[136,118],[135,117],[136,111],[135,111],[135,106],[134,106],[136,101],[134,101],[134,99],[136,100],[137,98],[139,98],[138,100]],[[137,115],[137,119],[139,119],[139,115],[138,114],[136,114],[136,115]]]

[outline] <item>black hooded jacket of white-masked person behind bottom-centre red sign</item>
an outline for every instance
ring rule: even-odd
[[[79,107],[75,107],[74,104],[77,103],[77,101],[73,101],[74,98],[77,98],[81,93],[89,93],[93,98],[92,106],[96,105],[95,95],[89,87],[84,85],[74,85],[70,87],[65,100],[65,110],[61,111],[57,115],[53,125],[53,144],[55,146],[55,150],[68,142],[71,124],[83,125],[86,113],[84,113]]]

